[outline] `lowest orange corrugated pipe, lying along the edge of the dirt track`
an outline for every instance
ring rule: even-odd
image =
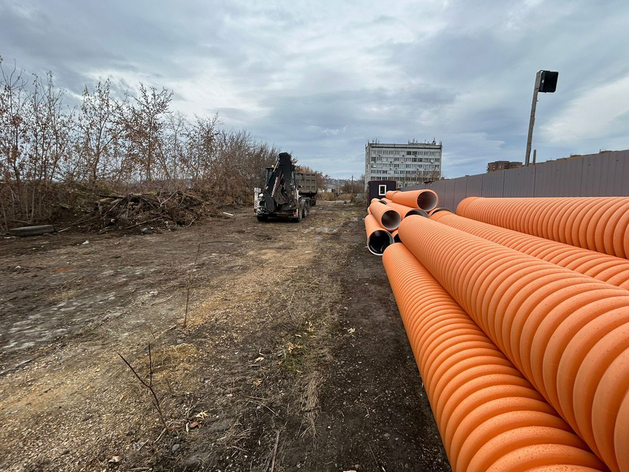
[[[607,470],[408,249],[382,261],[454,472]]]

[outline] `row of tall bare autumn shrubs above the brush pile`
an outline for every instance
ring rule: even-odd
[[[192,188],[218,204],[250,203],[277,149],[221,129],[217,115],[174,112],[170,90],[114,89],[109,80],[86,86],[71,108],[51,73],[29,82],[0,57],[0,231],[54,219],[79,189],[98,196]]]

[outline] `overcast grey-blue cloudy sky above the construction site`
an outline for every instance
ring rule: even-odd
[[[111,78],[174,91],[333,177],[364,146],[443,141],[447,177],[524,159],[535,73],[538,160],[629,149],[629,2],[0,0],[0,56],[68,94]]]

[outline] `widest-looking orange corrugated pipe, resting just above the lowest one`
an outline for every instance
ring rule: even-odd
[[[608,467],[629,471],[627,291],[430,219],[399,234]]]

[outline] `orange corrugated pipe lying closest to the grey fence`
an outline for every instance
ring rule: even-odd
[[[610,256],[629,256],[629,197],[469,197],[457,214]]]

